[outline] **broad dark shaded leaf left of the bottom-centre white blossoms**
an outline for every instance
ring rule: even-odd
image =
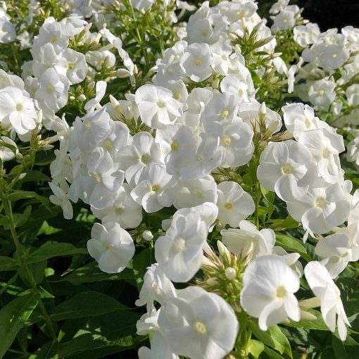
[[[80,317],[92,317],[114,310],[128,310],[111,296],[97,291],[82,291],[67,301],[60,303],[51,313],[53,320],[65,320]]]

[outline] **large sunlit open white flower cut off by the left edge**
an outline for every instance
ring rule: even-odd
[[[0,123],[26,134],[36,127],[36,118],[34,102],[25,90],[10,86],[0,89]]]

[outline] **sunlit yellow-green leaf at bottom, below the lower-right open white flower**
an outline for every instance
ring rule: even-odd
[[[248,325],[251,327],[252,332],[256,338],[259,341],[262,341],[263,344],[274,348],[281,354],[286,353],[291,358],[293,358],[291,354],[291,345],[277,325],[269,327],[267,332],[263,332],[263,330],[258,327],[258,323],[253,320],[250,320]]]

